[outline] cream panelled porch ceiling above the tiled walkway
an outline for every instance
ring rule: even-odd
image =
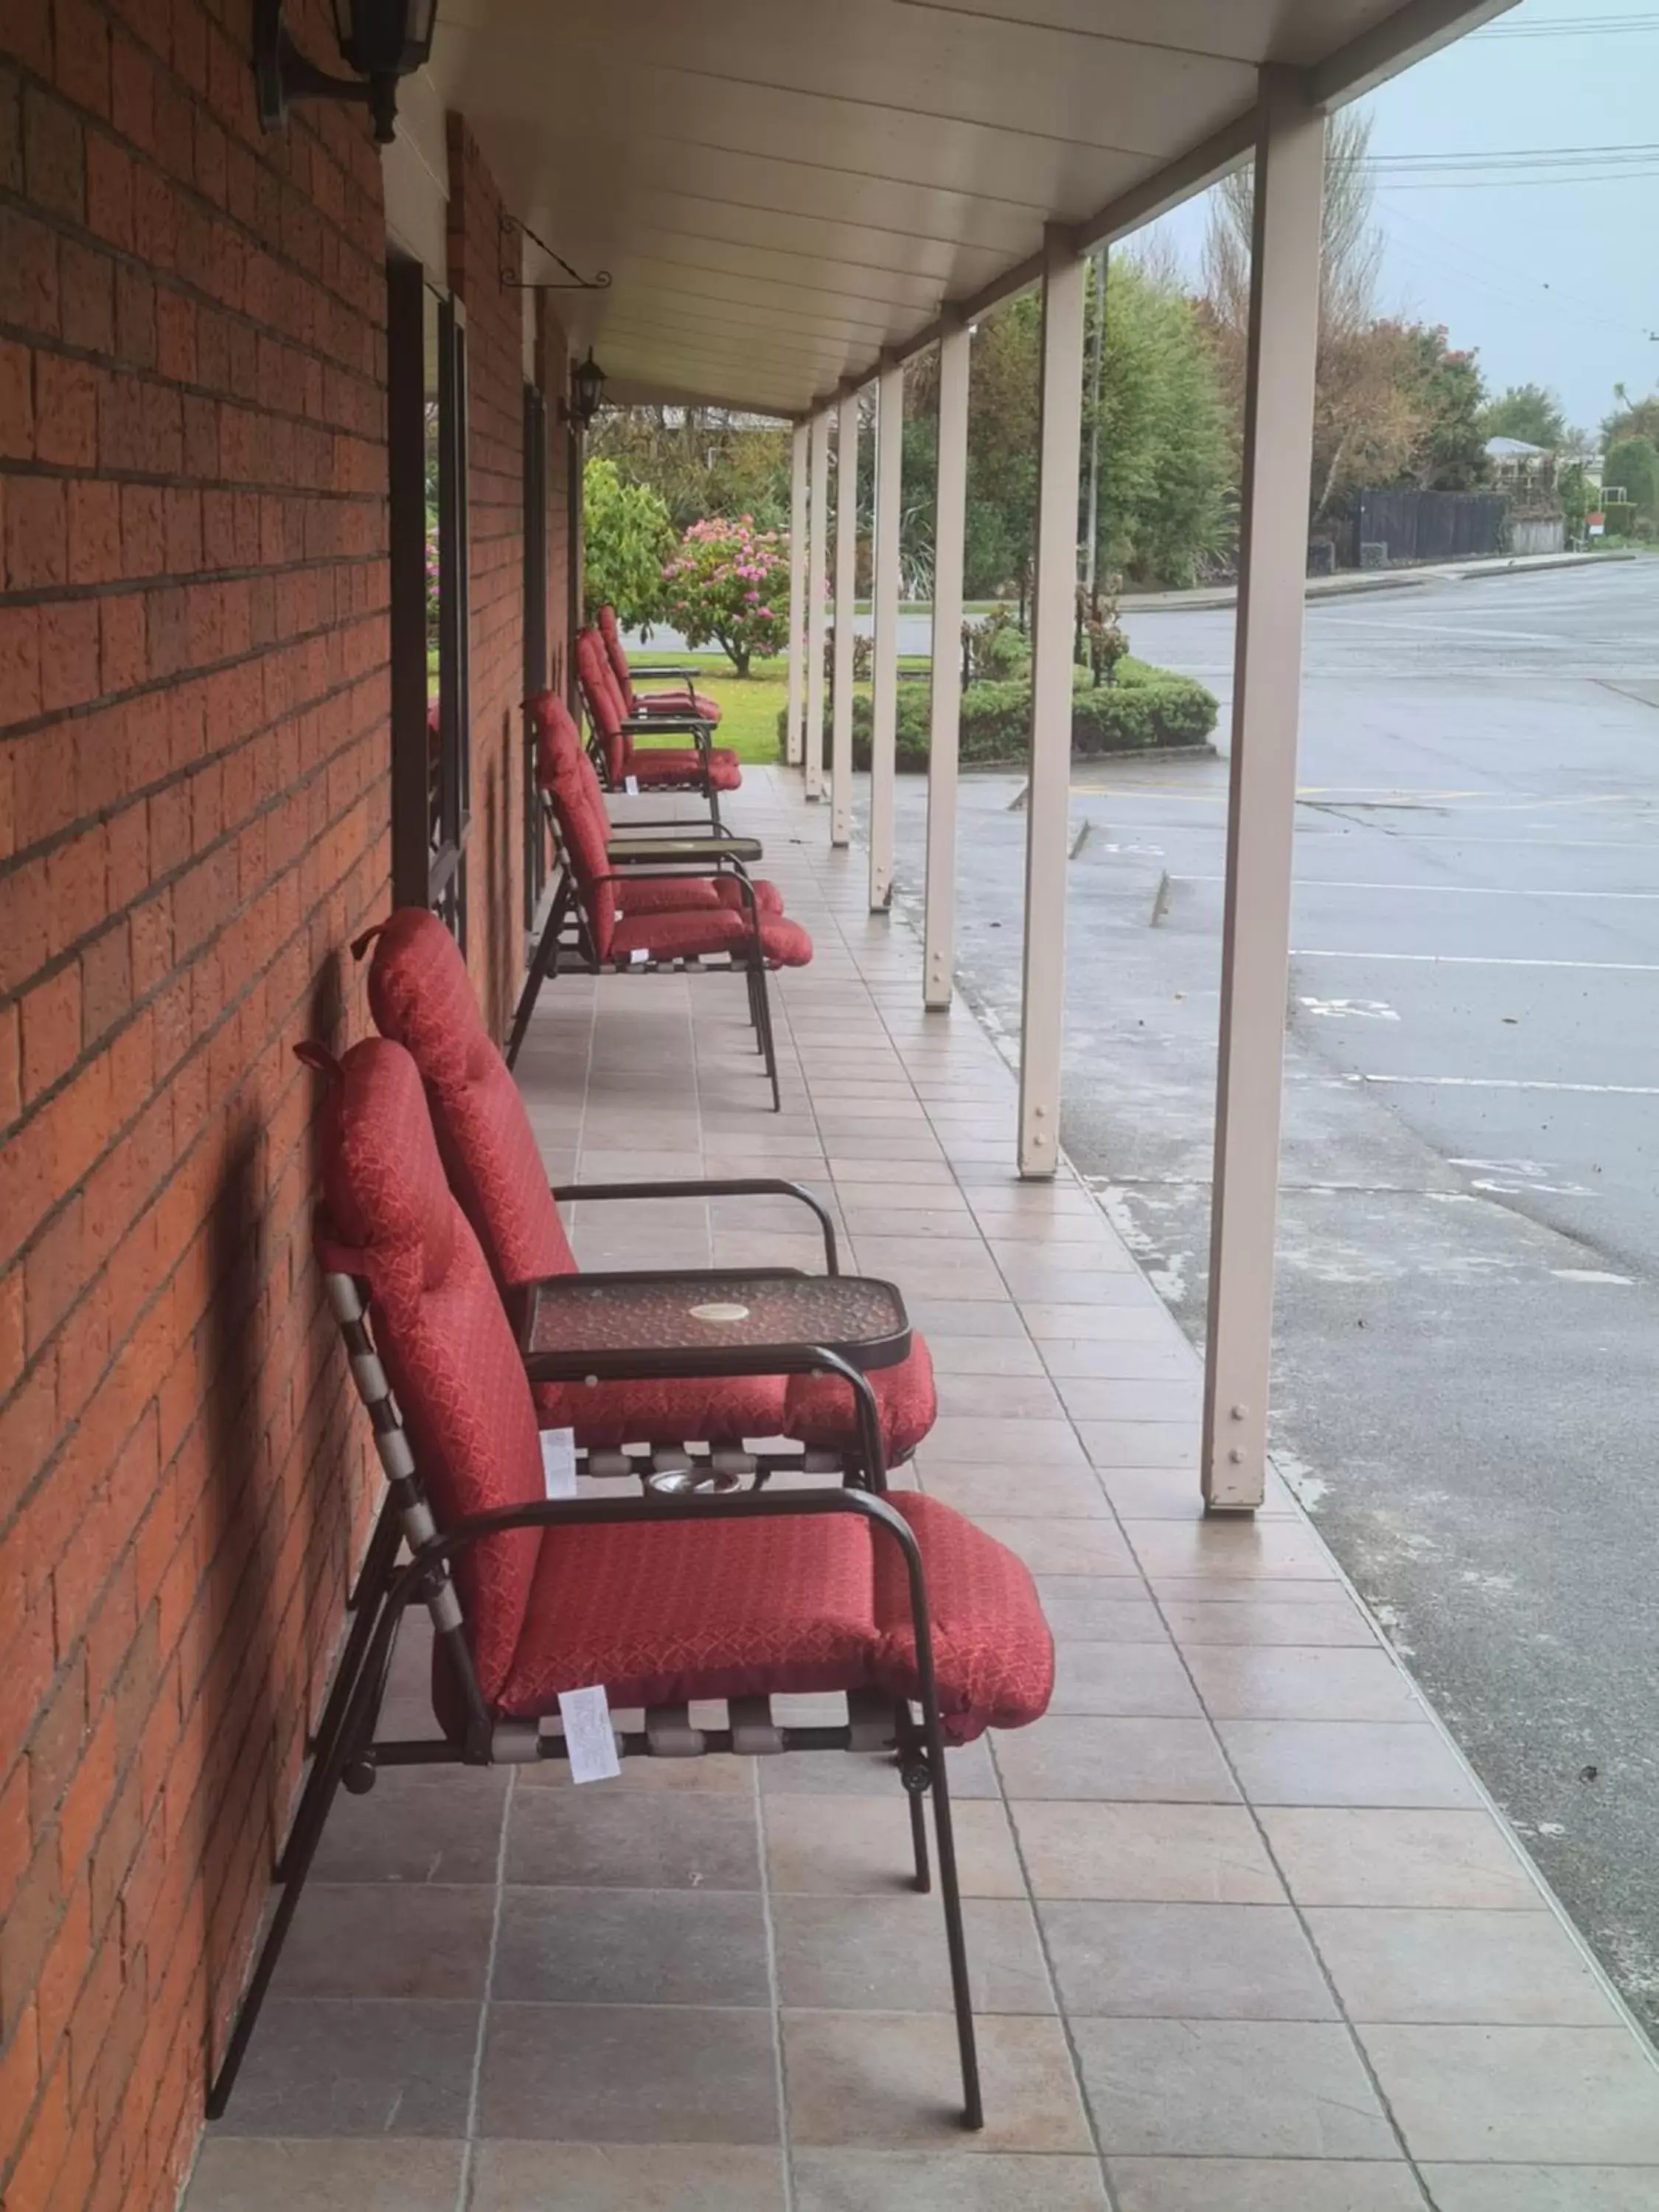
[[[947,307],[1232,166],[1256,69],[1340,102],[1513,0],[440,0],[431,80],[617,396],[803,414]],[[540,254],[526,272],[557,276]]]

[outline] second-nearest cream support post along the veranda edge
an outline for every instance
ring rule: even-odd
[[[1037,562],[1031,604],[1031,787],[1020,998],[1020,1175],[1060,1164],[1060,1040],[1066,1015],[1066,816],[1077,619],[1077,460],[1084,431],[1084,270],[1071,234],[1042,241]]]

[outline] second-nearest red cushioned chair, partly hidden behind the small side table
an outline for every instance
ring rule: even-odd
[[[365,940],[358,940],[365,942]],[[502,1296],[551,1274],[568,1274],[575,1256],[560,1203],[577,1199],[790,1197],[818,1217],[825,1267],[838,1270],[825,1208],[799,1183],[774,1179],[703,1183],[571,1183],[549,1190],[542,1155],[518,1084],[484,1029],[467,962],[436,914],[400,907],[378,931],[369,964],[374,1026],[416,1060],[427,1086],[438,1150]],[[896,1367],[869,1376],[885,1467],[911,1458],[938,1418],[933,1363],[920,1336]],[[799,1467],[799,1455],[737,1453],[745,1440],[785,1436],[830,1467],[860,1473],[858,1411],[838,1374],[743,1376],[708,1383],[626,1383],[571,1389],[538,1385],[544,1427],[573,1427],[588,1451],[624,1444],[664,1447],[679,1464],[684,1447],[708,1444],[712,1469],[754,1467],[759,1475]],[[606,1462],[611,1471],[630,1471]]]

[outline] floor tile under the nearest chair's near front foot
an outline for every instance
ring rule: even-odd
[[[962,2132],[949,2013],[785,2013],[790,2139],[872,2148],[1093,2150],[1057,2020],[978,2022],[984,2128]]]

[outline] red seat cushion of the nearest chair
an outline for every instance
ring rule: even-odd
[[[1035,1721],[1053,1639],[1031,1575],[951,1506],[889,1500],[922,1551],[945,1734]],[[898,1544],[854,1513],[549,1531],[502,1710],[887,1690],[918,1697]]]

